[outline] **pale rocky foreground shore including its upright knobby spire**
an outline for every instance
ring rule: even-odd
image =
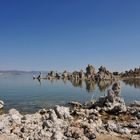
[[[140,101],[129,106],[115,83],[107,96],[84,104],[71,102],[34,114],[11,109],[0,115],[1,140],[139,140]]]

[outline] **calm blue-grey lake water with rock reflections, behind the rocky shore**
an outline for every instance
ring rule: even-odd
[[[81,81],[37,81],[32,74],[0,75],[0,99],[5,102],[4,110],[16,108],[21,112],[35,112],[56,104],[70,101],[81,103],[105,96],[112,82]],[[140,80],[121,81],[121,96],[127,103],[140,100]]]

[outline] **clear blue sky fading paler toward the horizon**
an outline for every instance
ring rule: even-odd
[[[140,66],[139,0],[1,0],[0,69]]]

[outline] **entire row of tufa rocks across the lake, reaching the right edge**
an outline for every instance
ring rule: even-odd
[[[107,70],[106,67],[101,66],[98,71],[93,67],[93,65],[88,64],[86,67],[86,71],[83,70],[80,71],[74,71],[74,72],[67,72],[66,70],[63,73],[58,73],[55,71],[50,71],[47,76],[42,77],[41,73],[37,77],[33,77],[33,79],[48,79],[48,80],[70,80],[70,81],[77,81],[77,80],[89,80],[89,81],[95,81],[100,82],[104,80],[124,80],[124,79],[130,79],[130,78],[140,78],[140,68],[135,68],[134,70],[125,71],[124,73],[119,72],[110,72]]]

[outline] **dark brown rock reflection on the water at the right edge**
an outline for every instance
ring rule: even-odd
[[[134,88],[140,89],[140,79],[127,79],[123,80],[125,85],[133,86]]]

